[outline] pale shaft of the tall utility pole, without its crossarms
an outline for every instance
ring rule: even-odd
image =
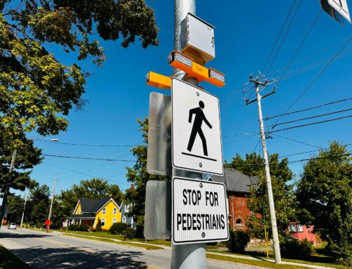
[[[265,132],[264,132],[263,114],[262,114],[262,107],[261,107],[262,97],[260,96],[260,93],[259,93],[258,84],[256,84],[256,93],[257,93],[258,114],[259,114],[259,122],[260,122],[260,136],[262,140],[264,164],[265,164],[265,178],[266,178],[266,184],[268,189],[268,200],[269,200],[271,227],[272,227],[272,241],[274,243],[275,263],[281,263],[279,235],[277,235],[277,224],[276,224],[276,216],[275,216],[274,197],[272,195],[269,159],[268,159],[268,152],[267,152],[266,143],[265,143]]]

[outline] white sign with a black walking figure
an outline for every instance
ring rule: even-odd
[[[219,99],[172,78],[172,166],[222,175]]]

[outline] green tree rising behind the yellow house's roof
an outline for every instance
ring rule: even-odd
[[[74,184],[69,190],[62,190],[58,195],[58,204],[54,214],[58,216],[68,216],[72,214],[73,209],[80,198],[100,199],[109,195],[113,197],[118,204],[122,203],[123,193],[118,185],[109,184],[101,178],[92,178],[87,181],[80,181],[79,185]]]

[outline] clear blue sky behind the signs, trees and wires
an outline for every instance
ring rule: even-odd
[[[148,1],[147,1],[148,2]],[[149,1],[155,9],[156,20],[160,28],[160,45],[143,49],[138,42],[125,49],[120,41],[101,41],[107,56],[103,67],[96,67],[85,60],[80,65],[92,76],[87,79],[87,92],[84,98],[89,103],[82,111],[72,111],[68,116],[68,131],[56,138],[62,143],[83,143],[103,145],[137,145],[142,143],[137,118],[147,117],[149,113],[149,94],[159,91],[146,85],[145,74],[149,70],[165,75],[172,74],[167,56],[173,50],[174,1]],[[258,112],[256,104],[246,106],[243,85],[249,74],[258,74],[263,68],[270,49],[282,27],[292,1],[197,1],[196,15],[215,26],[216,58],[207,67],[213,67],[226,74],[226,86],[217,88],[206,82],[203,86],[220,98],[222,141],[224,159],[230,161],[239,153],[253,152],[258,143],[258,136],[241,135],[258,131]],[[351,1],[349,1],[352,6]],[[296,48],[308,31],[308,28],[320,12],[318,0],[302,1],[296,18],[291,25],[287,38],[272,65],[270,77],[279,78],[284,67],[289,63]],[[332,56],[344,46],[351,37],[351,25],[346,22],[342,27],[326,13],[322,12],[313,27],[294,63],[279,84],[277,93],[263,100],[263,115],[269,117],[284,112],[301,94],[310,82],[327,65]],[[56,57],[66,64],[75,61],[73,55],[67,55],[58,47],[49,46]],[[290,111],[313,107],[352,96],[352,42],[327,68],[313,86],[298,100]],[[277,74],[275,74],[278,70]],[[253,98],[253,96],[252,96]],[[283,117],[281,121],[310,117],[343,110],[351,107],[352,101],[337,103]],[[322,119],[331,119],[351,114],[350,112],[298,122],[305,124]],[[272,124],[272,121],[265,122]],[[327,147],[329,140],[352,143],[352,120],[341,119],[336,122],[317,124],[299,129],[277,133],[268,140],[270,153],[289,155],[296,152],[317,150]],[[31,137],[37,137],[30,135]],[[298,140],[303,143],[294,142]],[[133,160],[131,147],[88,147],[35,141],[47,155],[66,155],[76,157],[93,157],[108,159]],[[351,147],[349,147],[351,149]],[[259,152],[260,146],[256,147]],[[289,160],[306,159],[310,155],[296,155]],[[53,185],[57,176],[57,190],[70,188],[73,183],[94,177],[105,178],[110,183],[117,183],[122,190],[130,186],[125,179],[125,166],[133,162],[102,162],[80,159],[61,159],[46,157],[44,162],[33,169],[32,178],[40,184]],[[296,176],[303,169],[303,162],[290,164]],[[70,171],[74,170],[76,172]],[[79,172],[79,173],[77,173]]]

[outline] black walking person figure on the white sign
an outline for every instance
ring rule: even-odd
[[[204,108],[204,103],[202,101],[199,101],[199,107],[195,107],[189,110],[189,119],[188,119],[189,123],[192,122],[193,114],[196,114],[196,116],[194,117],[194,123],[191,131],[191,136],[189,137],[187,150],[191,152],[192,147],[194,145],[194,140],[196,140],[196,135],[198,133],[199,137],[201,138],[201,142],[203,143],[204,155],[208,156],[208,149],[206,147],[206,137],[204,136],[204,133],[201,129],[201,124],[205,122],[210,129],[212,129],[213,126],[211,126],[211,124],[206,119],[206,116],[204,115],[204,112],[203,112],[203,108]]]

